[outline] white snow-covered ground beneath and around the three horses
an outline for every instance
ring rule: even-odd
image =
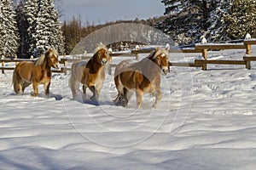
[[[208,58],[244,54],[214,51]],[[63,74],[54,74],[50,98],[44,98],[43,86],[37,98],[30,95],[32,87],[16,96],[12,71],[6,71],[0,74],[0,169],[256,169],[252,64],[249,71],[243,65],[208,65],[208,71],[172,67],[162,77],[160,107],[151,109],[154,99],[145,94],[141,110],[135,109],[135,97],[127,108],[113,105],[117,91],[110,75],[96,105],[71,99]]]

